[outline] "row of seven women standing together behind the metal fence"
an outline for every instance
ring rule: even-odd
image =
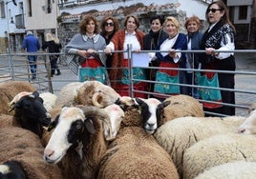
[[[78,56],[80,81],[101,81],[111,85],[120,95],[131,95],[129,87],[132,86],[135,90],[148,91],[150,97],[157,97],[160,100],[167,95],[180,93],[203,99],[205,95],[202,94],[205,90],[200,91],[189,85],[200,85],[202,80],[197,79],[203,79],[202,77],[211,81],[214,76],[216,80],[215,74],[218,73],[216,82],[218,87],[234,89],[234,74],[214,71],[195,72],[193,69],[235,70],[233,53],[223,52],[234,50],[235,34],[223,1],[212,2],[206,9],[205,17],[209,28],[204,33],[200,32],[201,22],[197,16],[186,20],[184,26],[187,34],[180,32],[180,23],[173,16],[168,16],[165,20],[156,16],[151,18],[150,30],[144,34],[139,30],[139,19],[135,15],[125,17],[122,30],[118,30],[116,18],[104,18],[100,26],[101,33],[98,31],[96,18],[88,15],[83,17],[79,33],[65,47],[65,52]],[[132,46],[129,46],[131,44]],[[130,47],[135,52],[157,51],[149,52],[149,68],[132,68],[132,81],[129,80],[130,57],[126,52]],[[204,50],[205,52],[191,53],[182,52],[182,50]],[[145,83],[145,80],[148,83]],[[235,103],[232,90],[220,92],[220,99],[205,100]],[[133,95],[148,97],[147,94],[139,92],[134,92]],[[218,105],[218,103],[212,105],[203,102],[203,108],[211,112],[235,114],[234,108]]]

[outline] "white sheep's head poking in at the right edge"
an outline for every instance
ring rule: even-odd
[[[239,127],[239,133],[255,134],[256,133],[256,109],[251,110],[250,115],[245,122]]]

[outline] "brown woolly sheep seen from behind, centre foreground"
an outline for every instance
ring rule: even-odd
[[[143,129],[139,110],[128,107],[98,169],[97,178],[179,178],[168,153]]]

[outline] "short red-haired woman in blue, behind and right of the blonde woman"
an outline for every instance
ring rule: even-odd
[[[189,17],[185,22],[185,29],[187,30],[187,50],[200,50],[201,40],[203,33],[201,33],[201,22],[198,16],[193,15]],[[187,53],[186,54],[186,69],[198,69],[199,68],[199,53]],[[194,71],[186,71],[185,81],[189,85],[197,85],[197,80],[194,75]],[[187,94],[199,98],[197,88],[187,88]]]

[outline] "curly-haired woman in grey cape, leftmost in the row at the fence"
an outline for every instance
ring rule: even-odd
[[[105,39],[98,34],[96,18],[91,15],[84,16],[79,25],[79,33],[75,34],[65,47],[66,53],[74,57],[78,55],[79,81],[96,80],[107,83],[106,55],[100,53],[105,47]],[[72,61],[75,61],[75,58],[72,58]]]

